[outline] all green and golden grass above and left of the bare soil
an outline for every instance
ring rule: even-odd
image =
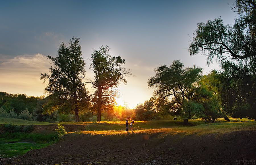
[[[120,143],[124,139],[146,139],[152,144],[164,142],[167,137],[175,137],[173,141],[186,139],[189,136],[195,138],[203,138],[206,136],[214,135],[214,138],[219,139],[225,134],[232,135],[237,132],[255,132],[256,123],[249,119],[231,119],[225,121],[224,119],[216,119],[215,123],[207,123],[201,119],[190,120],[189,125],[183,125],[182,120],[160,120],[160,121],[135,121],[133,132],[125,132],[125,121],[101,121],[101,122],[37,122],[26,121],[22,119],[3,118],[0,117],[0,124],[2,125],[69,125],[77,126],[82,125],[84,130],[75,132],[68,132],[60,140],[58,139],[56,131],[42,130],[41,132],[4,132],[0,135],[0,157],[2,158],[15,158],[24,155],[28,151],[40,151],[38,149],[48,148],[51,145],[63,145],[70,139],[83,139],[89,138],[88,143],[97,143],[92,141],[92,138],[97,138],[98,141],[104,142],[106,138],[109,145],[111,141]],[[244,134],[244,133],[242,133]],[[112,140],[111,140],[112,139]],[[95,139],[94,139],[95,140]],[[135,140],[135,142],[137,141]],[[99,143],[102,143],[99,142]],[[73,143],[73,142],[70,142]],[[74,145],[84,145],[84,142],[75,140]],[[141,143],[137,144],[141,145]],[[169,145],[169,144],[168,144]],[[133,146],[133,144],[131,145]],[[156,145],[157,146],[157,145]],[[88,146],[90,147],[90,146]],[[92,146],[91,146],[92,147]],[[90,148],[91,148],[90,147]],[[29,152],[31,153],[31,152]],[[53,154],[54,155],[54,154]],[[26,156],[26,155],[24,155]],[[14,160],[14,159],[13,159]],[[95,164],[95,162],[91,162]]]

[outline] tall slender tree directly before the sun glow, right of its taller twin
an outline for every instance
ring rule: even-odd
[[[98,118],[101,121],[102,110],[112,108],[117,96],[117,88],[120,82],[127,83],[125,75],[130,75],[130,70],[123,68],[125,60],[120,56],[109,54],[109,47],[101,46],[100,50],[92,53],[92,63],[90,69],[94,72],[94,80],[88,80],[92,87],[96,89],[93,102],[96,105]],[[109,107],[110,106],[110,107]]]

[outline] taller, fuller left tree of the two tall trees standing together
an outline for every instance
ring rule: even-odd
[[[49,68],[49,73],[41,74],[40,79],[47,82],[45,92],[51,95],[59,109],[72,110],[75,121],[79,122],[78,102],[88,100],[88,91],[82,83],[85,62],[79,38],[73,37],[68,46],[62,42],[58,47],[58,56],[47,57],[54,67]]]

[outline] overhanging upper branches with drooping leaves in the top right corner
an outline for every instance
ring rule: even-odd
[[[207,63],[226,59],[248,59],[256,56],[256,4],[253,0],[236,0],[239,18],[234,25],[223,25],[216,18],[199,23],[189,45],[190,55],[199,52],[208,56]]]

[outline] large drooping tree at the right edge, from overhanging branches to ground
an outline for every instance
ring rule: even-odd
[[[234,117],[255,118],[256,3],[236,0],[232,9],[238,12],[234,25],[223,25],[220,18],[199,23],[188,50],[190,55],[205,54],[207,64],[214,58],[220,62],[222,110]]]

